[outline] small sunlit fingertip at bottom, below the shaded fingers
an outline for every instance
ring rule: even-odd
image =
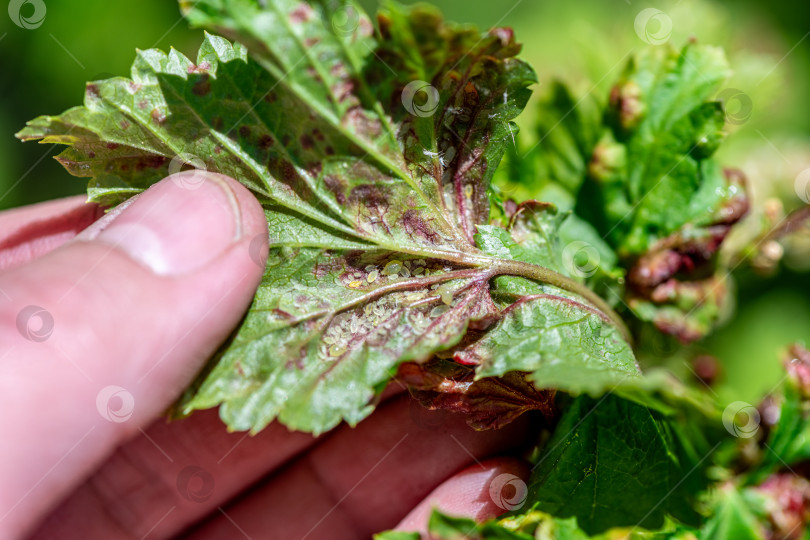
[[[502,474],[512,475],[523,482],[529,478],[529,466],[515,458],[495,458],[471,465],[443,482],[411,510],[395,527],[398,531],[418,532],[427,538],[427,524],[434,509],[447,515],[486,521],[504,514],[522,501],[509,503],[514,492],[504,495],[506,501],[493,499],[492,481]],[[515,506],[517,508],[517,506]]]

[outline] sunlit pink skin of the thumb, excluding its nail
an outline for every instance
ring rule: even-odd
[[[266,235],[258,202],[232,182],[242,240],[200,271],[158,277],[93,242],[66,245],[0,276],[0,288],[55,321],[44,342],[21,337],[19,301],[0,307],[0,528],[22,531],[122,441],[161,414],[241,318],[262,269],[249,249]],[[120,386],[135,406],[103,416],[101,391]],[[109,414],[108,414],[109,417]]]

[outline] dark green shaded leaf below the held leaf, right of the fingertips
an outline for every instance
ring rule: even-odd
[[[535,507],[576,517],[587,533],[658,529],[664,517],[692,516],[700,463],[679,452],[669,422],[635,403],[580,397],[566,410],[529,482]],[[695,482],[697,480],[697,482]]]

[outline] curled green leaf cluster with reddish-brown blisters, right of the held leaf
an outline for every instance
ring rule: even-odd
[[[745,177],[712,157],[725,124],[712,96],[728,75],[714,47],[653,47],[603,103],[555,83],[538,111],[533,191],[564,200],[598,231],[594,273],[615,275],[604,239],[626,273],[624,302],[683,342],[706,335],[727,305],[717,252],[748,210]]]

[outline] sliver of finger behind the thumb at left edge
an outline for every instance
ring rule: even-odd
[[[79,195],[0,212],[0,271],[20,266],[74,238],[103,214]]]

